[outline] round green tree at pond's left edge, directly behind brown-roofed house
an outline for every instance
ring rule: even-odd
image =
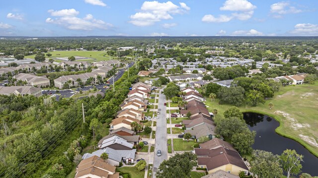
[[[249,154],[252,152],[256,132],[245,129],[242,133],[236,133],[231,137],[231,143],[240,154]]]

